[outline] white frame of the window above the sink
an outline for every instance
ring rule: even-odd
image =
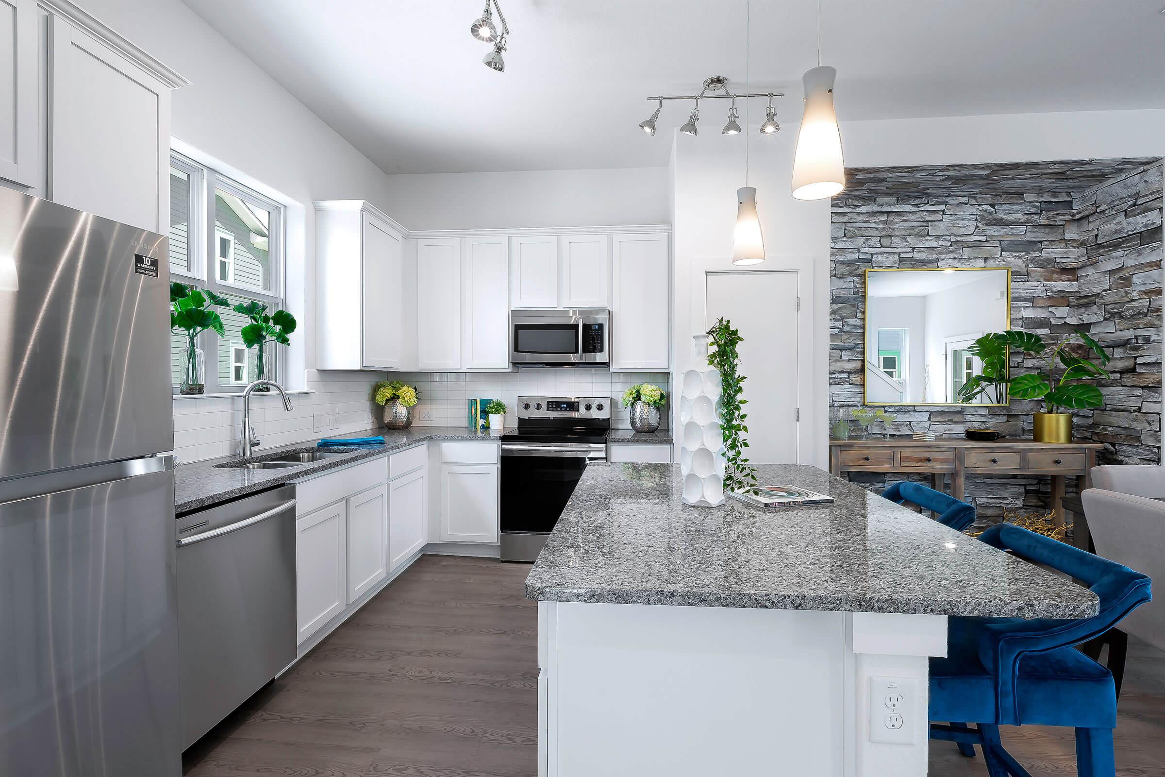
[[[213,168],[196,162],[195,160],[172,149],[170,150],[170,164],[175,169],[185,172],[190,181],[186,233],[188,249],[190,252],[189,261],[195,264],[193,270],[189,273],[182,273],[170,268],[171,280],[178,281],[179,283],[186,283],[199,289],[210,290],[221,296],[254,299],[267,304],[269,312],[275,312],[278,309],[285,309],[285,206],[260,195],[226,175],[218,172]],[[213,214],[216,191],[218,190],[233,195],[245,203],[261,207],[270,214],[267,247],[269,257],[270,290],[255,289],[233,281],[233,250],[231,262],[232,280],[218,280],[218,234],[221,232],[224,236],[231,238],[232,248],[235,242],[232,233],[216,226]],[[195,207],[196,204],[198,207]],[[227,339],[226,342],[230,344],[228,347],[232,347],[233,344],[238,341]],[[234,383],[233,381],[223,382],[219,377],[219,349],[221,344],[223,338],[220,338],[213,330],[206,330],[198,335],[198,347],[202,348],[205,354],[205,391],[206,394],[240,394],[247,387],[247,383]],[[269,363],[274,368],[276,380],[280,380],[285,374],[287,369],[285,349],[275,348],[275,353],[268,354],[268,359],[271,359],[271,356],[274,356],[274,363]],[[233,379],[233,347],[231,352],[231,365],[230,377]],[[175,396],[178,396],[177,384],[172,386],[172,391]]]

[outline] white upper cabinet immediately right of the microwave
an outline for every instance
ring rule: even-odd
[[[613,370],[670,368],[668,242],[666,233],[612,235]]]

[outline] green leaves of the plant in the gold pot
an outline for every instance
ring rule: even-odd
[[[1074,345],[1081,354],[1069,349]],[[1036,356],[1044,362],[1045,369],[1008,377],[1007,360],[1010,348],[1022,351],[1024,355]],[[993,332],[975,340],[969,351],[982,360],[983,372],[973,375],[959,390],[960,402],[970,402],[982,395],[1002,402],[1004,393],[1008,393],[1017,400],[1044,400],[1047,412],[1100,408],[1104,404],[1104,395],[1099,388],[1080,381],[1109,377],[1104,367],[1110,356],[1100,342],[1080,330],[1060,340],[1054,347],[1044,342],[1038,334],[1022,330]],[[1089,355],[1095,356],[1100,365],[1096,365]],[[1062,372],[1059,372],[1061,369]]]

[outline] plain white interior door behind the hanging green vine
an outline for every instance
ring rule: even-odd
[[[798,461],[797,270],[708,273],[705,324],[721,316],[740,330],[740,370],[748,419],[748,458]]]

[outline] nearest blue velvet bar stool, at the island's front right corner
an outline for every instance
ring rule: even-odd
[[[1003,749],[1000,726],[1071,726],[1080,777],[1114,777],[1113,674],[1074,645],[1150,601],[1149,577],[1012,524],[980,539],[1082,581],[1100,612],[1081,620],[949,619],[947,657],[930,662],[930,719],[976,726],[932,722],[931,739],[956,742],[963,755],[979,744],[991,777],[1030,777]]]

